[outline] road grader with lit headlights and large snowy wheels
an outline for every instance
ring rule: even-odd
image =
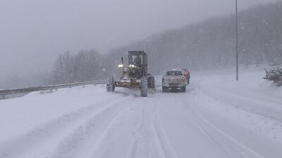
[[[139,88],[141,97],[147,97],[148,88],[154,89],[154,76],[147,73],[147,53],[145,51],[128,51],[128,65],[123,58],[121,64],[121,78],[110,77],[106,84],[106,91],[115,91],[116,87]]]

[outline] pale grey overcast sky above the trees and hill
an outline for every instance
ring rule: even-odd
[[[276,0],[238,0],[239,8]],[[50,70],[64,51],[110,48],[234,12],[235,0],[1,0],[0,77]]]

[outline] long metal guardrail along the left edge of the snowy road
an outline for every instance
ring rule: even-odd
[[[18,88],[18,89],[6,89],[0,90],[0,100],[5,99],[7,95],[13,95],[18,93],[30,93],[33,91],[44,91],[44,90],[53,90],[59,88],[71,88],[73,86],[85,86],[90,84],[106,84],[107,80],[99,80],[99,81],[85,81],[73,84],[58,84],[58,85],[50,85],[50,86],[34,86],[28,88]]]

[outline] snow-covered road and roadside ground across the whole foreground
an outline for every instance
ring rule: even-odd
[[[148,98],[99,85],[0,100],[0,157],[281,157],[282,88],[263,70],[191,75]]]

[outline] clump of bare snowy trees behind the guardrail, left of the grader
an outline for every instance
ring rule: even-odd
[[[97,51],[82,50],[77,54],[61,53],[54,62],[51,84],[68,84],[104,79],[103,57]]]

